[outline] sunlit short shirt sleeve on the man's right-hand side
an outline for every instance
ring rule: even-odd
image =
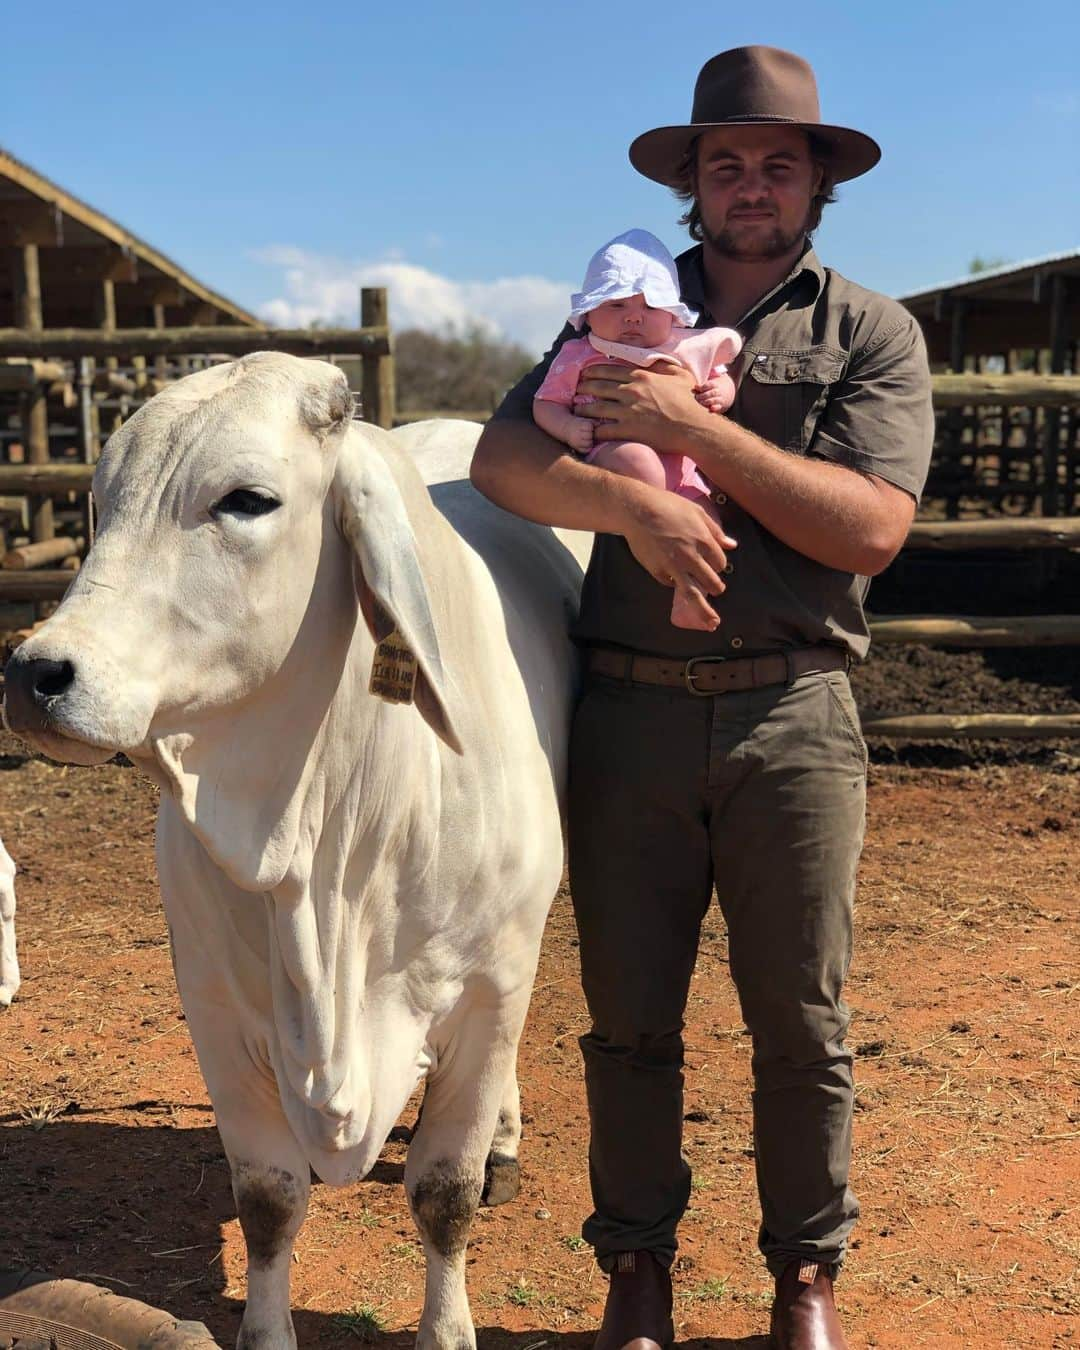
[[[905,315],[853,352],[833,385],[809,454],[903,487],[918,501],[934,447],[930,366]]]

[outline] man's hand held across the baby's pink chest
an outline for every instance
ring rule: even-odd
[[[672,362],[645,370],[628,366],[590,366],[578,392],[595,402],[578,412],[601,418],[597,440],[637,440],[653,450],[686,454],[687,429],[710,414],[694,397],[694,377]]]

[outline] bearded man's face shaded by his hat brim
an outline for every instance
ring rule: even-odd
[[[796,127],[720,127],[698,142],[697,198],[705,239],[742,262],[782,258],[807,231],[821,170]]]

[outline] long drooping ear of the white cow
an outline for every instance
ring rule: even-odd
[[[394,630],[401,636],[417,663],[416,706],[436,736],[460,755],[416,536],[390,468],[358,435],[342,444],[333,491],[342,533],[352,547],[356,595],[367,629],[375,643]]]

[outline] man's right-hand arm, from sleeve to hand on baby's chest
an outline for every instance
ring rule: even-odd
[[[593,366],[582,390],[598,402],[582,412],[610,420],[597,429],[597,440],[644,440],[656,450],[688,455],[791,548],[826,567],[873,576],[903,545],[921,479],[915,485],[917,475],[896,474],[911,481],[909,490],[875,474],[879,464],[890,474],[894,470],[865,447],[875,440],[891,446],[915,437],[925,441],[929,456],[933,431],[929,377],[925,400],[919,394],[925,373],[921,338],[898,333],[891,347],[883,343],[882,348],[861,363],[848,387],[834,392],[836,414],[824,418],[824,431],[807,458],[710,416],[694,398],[691,378],[670,369]],[[879,404],[884,390],[888,397],[882,406],[903,406],[896,398],[898,370],[910,370],[913,397],[900,425],[888,428],[880,424]],[[818,443],[817,454],[825,458],[814,458]]]

